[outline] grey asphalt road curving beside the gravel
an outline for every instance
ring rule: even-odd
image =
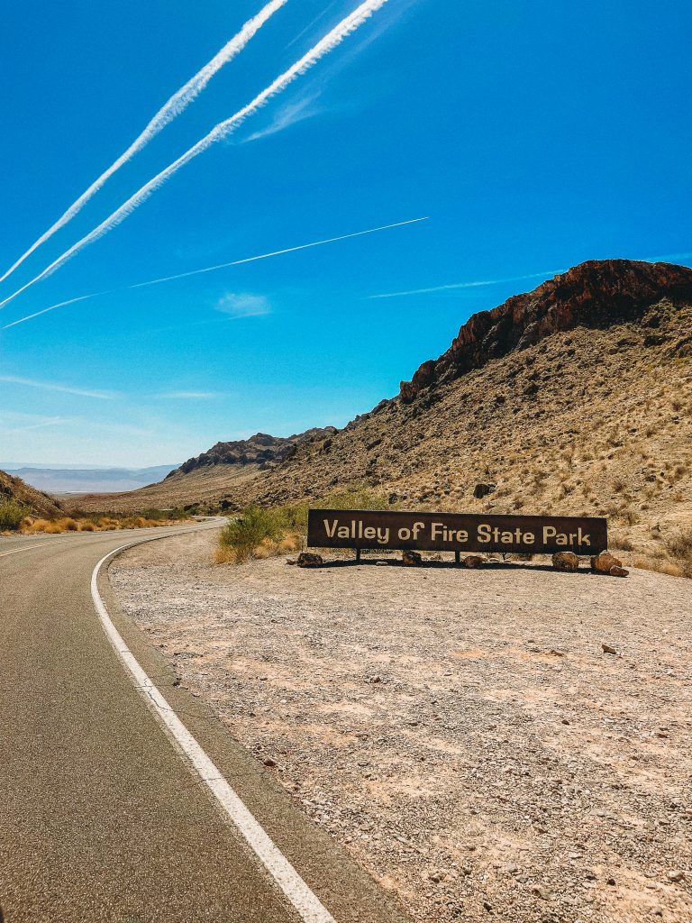
[[[107,637],[90,589],[98,562],[119,546],[185,531],[193,529],[0,538],[6,923],[404,923],[376,882],[179,687],[118,609],[104,566],[97,595],[163,710]],[[196,762],[173,739],[177,725],[194,738]],[[200,776],[205,766],[213,778]]]

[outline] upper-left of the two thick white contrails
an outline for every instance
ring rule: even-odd
[[[99,189],[101,189],[101,186],[103,186],[123,164],[131,160],[139,150],[142,150],[142,148],[149,144],[151,138],[158,135],[161,129],[170,122],[173,122],[174,118],[184,112],[187,106],[197,98],[202,90],[204,90],[209,80],[221,70],[221,67],[228,64],[229,61],[232,61],[236,54],[240,54],[247,42],[249,42],[255,33],[262,28],[268,18],[273,16],[274,13],[286,3],[288,3],[288,0],[271,0],[267,6],[264,6],[259,13],[257,13],[257,16],[248,19],[245,26],[238,34],[234,35],[233,39],[231,39],[230,42],[226,42],[223,48],[221,48],[219,54],[216,54],[208,64],[197,71],[197,74],[193,78],[190,78],[187,83],[185,83],[185,86],[173,93],[171,99],[161,106],[159,112],[154,115],[149,125],[137,138],[135,138],[129,148],[127,148],[127,150],[125,150],[125,152],[122,153],[98,179],[94,180],[86,192],[83,192],[82,195],[70,205],[65,214],[58,218],[45,234],[42,234],[41,237],[30,246],[26,253],[23,253],[21,257],[6,270],[5,275],[0,276],[0,282],[4,282],[7,276],[14,272],[27,257],[30,257],[37,247],[45,243],[45,241],[47,241],[49,237],[52,237],[56,231],[59,231],[60,228],[65,227],[66,223],[70,222],[78,211],[86,205],[89,198],[95,195]]]

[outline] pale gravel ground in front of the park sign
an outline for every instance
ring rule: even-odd
[[[214,540],[118,558],[125,611],[414,919],[689,923],[690,581]]]

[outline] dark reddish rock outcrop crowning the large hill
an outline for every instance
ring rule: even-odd
[[[446,353],[424,362],[411,381],[401,382],[401,401],[411,403],[435,382],[458,378],[551,333],[635,320],[662,298],[674,302],[690,297],[692,270],[684,266],[590,259],[532,292],[513,295],[491,311],[474,314]]]

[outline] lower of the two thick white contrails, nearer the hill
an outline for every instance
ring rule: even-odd
[[[257,113],[257,111],[261,109],[262,106],[266,105],[272,97],[276,96],[277,93],[280,93],[282,90],[285,90],[293,80],[316,65],[320,58],[340,45],[352,31],[363,25],[373,13],[387,2],[388,0],[365,0],[365,2],[354,9],[349,16],[343,18],[338,26],[329,31],[323,39],[317,42],[307,54],[304,54],[304,56],[289,67],[288,70],[284,71],[280,77],[276,78],[273,83],[270,83],[265,90],[262,90],[252,102],[249,102],[242,109],[239,109],[238,112],[230,118],[214,126],[208,135],[205,135],[204,138],[197,141],[197,144],[193,145],[189,150],[186,150],[182,156],[176,161],[173,161],[165,170],[162,170],[160,174],[157,174],[153,179],[149,180],[149,183],[142,186],[134,196],[128,198],[119,209],[113,211],[113,214],[106,218],[104,222],[101,222],[98,227],[94,228],[94,230],[85,237],[82,237],[77,244],[66,250],[61,257],[55,259],[50,266],[40,272],[38,276],[35,276],[30,282],[27,282],[26,285],[22,285],[16,292],[0,302],[0,308],[6,306],[6,304],[12,301],[13,298],[16,298],[18,294],[25,292],[35,282],[39,282],[51,272],[59,269],[83,247],[93,244],[94,241],[99,240],[105,234],[108,234],[109,231],[112,231],[114,227],[117,227],[118,224],[124,222],[125,218],[132,214],[142,202],[149,198],[149,196],[170,179],[173,174],[177,173],[181,167],[185,166],[185,163],[190,162],[193,158],[197,157],[198,154],[208,150],[211,145],[215,144],[217,141],[227,138],[238,126],[245,122],[246,118]]]

